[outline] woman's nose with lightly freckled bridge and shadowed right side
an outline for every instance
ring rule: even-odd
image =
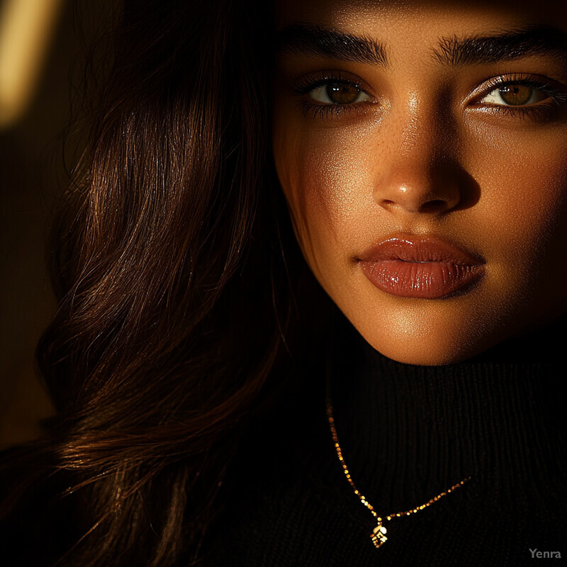
[[[376,155],[374,201],[391,213],[442,214],[461,203],[460,168],[449,157],[451,142],[429,131],[402,133],[397,144],[393,135],[389,147]]]

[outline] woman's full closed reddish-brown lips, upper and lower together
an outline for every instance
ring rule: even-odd
[[[406,298],[437,299],[463,291],[484,273],[485,261],[432,235],[389,237],[357,262],[381,291]]]

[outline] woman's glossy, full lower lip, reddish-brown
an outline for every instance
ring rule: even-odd
[[[392,296],[437,299],[470,288],[482,265],[451,262],[405,262],[400,259],[360,262],[366,277]]]

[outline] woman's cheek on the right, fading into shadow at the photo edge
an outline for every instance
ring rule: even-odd
[[[466,155],[481,186],[470,214],[492,269],[502,269],[498,283],[534,287],[563,273],[558,258],[567,257],[565,130],[517,136],[513,145],[498,139],[490,147],[476,143]]]

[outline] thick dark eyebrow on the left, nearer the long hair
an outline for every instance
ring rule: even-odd
[[[276,37],[276,53],[301,53],[354,63],[388,66],[384,45],[366,36],[305,24],[283,28]]]

